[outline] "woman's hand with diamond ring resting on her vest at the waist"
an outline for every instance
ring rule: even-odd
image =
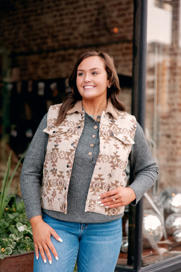
[[[100,204],[100,206],[106,206],[106,208],[112,209],[131,203],[136,199],[136,195],[132,188],[120,186],[119,188],[98,196],[97,199],[97,203]],[[115,200],[113,201],[113,199]]]

